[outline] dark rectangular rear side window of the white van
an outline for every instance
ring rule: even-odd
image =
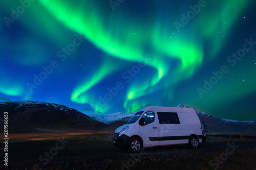
[[[159,124],[180,124],[177,113],[157,112]]]

